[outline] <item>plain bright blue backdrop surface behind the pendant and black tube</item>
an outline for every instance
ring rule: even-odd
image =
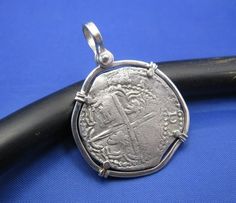
[[[92,70],[90,20],[116,59],[236,55],[235,0],[0,0],[0,118]],[[188,105],[190,138],[161,172],[104,180],[65,141],[0,177],[0,201],[236,202],[236,97]]]

